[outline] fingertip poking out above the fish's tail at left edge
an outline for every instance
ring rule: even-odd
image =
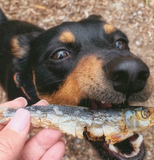
[[[12,101],[0,104],[0,107],[20,108],[20,107],[25,107],[26,105],[27,105],[27,100],[23,97],[19,97]]]

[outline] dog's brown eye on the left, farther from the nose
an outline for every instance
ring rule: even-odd
[[[54,53],[51,56],[51,58],[54,60],[61,60],[61,59],[66,58],[68,56],[69,56],[69,52],[67,52],[66,50],[61,50],[61,51]]]

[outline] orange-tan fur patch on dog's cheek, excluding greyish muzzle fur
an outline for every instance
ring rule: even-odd
[[[38,96],[52,104],[77,105],[81,99],[87,97],[90,87],[97,85],[94,81],[99,71],[102,71],[101,68],[102,61],[96,56],[85,56],[57,92],[52,95],[38,93]]]

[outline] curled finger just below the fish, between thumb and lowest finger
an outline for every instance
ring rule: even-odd
[[[25,144],[21,159],[38,160],[45,152],[59,141],[62,133],[56,130],[43,129]]]

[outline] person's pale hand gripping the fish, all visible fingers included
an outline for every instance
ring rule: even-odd
[[[0,104],[0,107],[24,107],[27,101],[20,97]],[[41,100],[35,105],[48,105]],[[0,159],[5,160],[61,160],[65,152],[66,140],[62,133],[42,129],[27,139],[30,130],[30,113],[19,109],[7,125],[0,125]]]

